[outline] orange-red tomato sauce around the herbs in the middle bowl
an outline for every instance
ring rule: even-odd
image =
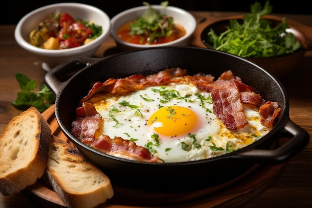
[[[133,21],[131,21],[133,22]],[[148,44],[148,36],[145,35],[130,35],[130,23],[128,22],[122,25],[117,31],[117,37],[125,42],[134,44]],[[161,44],[176,40],[186,34],[186,30],[179,24],[176,24],[172,28],[172,34],[170,36],[157,37],[150,44]]]

